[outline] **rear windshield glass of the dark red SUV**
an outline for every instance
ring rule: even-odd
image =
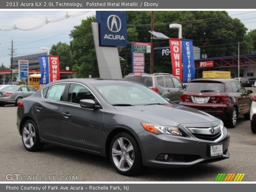
[[[188,92],[226,92],[225,85],[219,82],[190,82],[186,88]]]

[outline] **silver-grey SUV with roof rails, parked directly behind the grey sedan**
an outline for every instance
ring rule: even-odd
[[[180,95],[184,92],[182,82],[169,73],[130,73],[124,80],[143,84],[174,103],[180,101]]]

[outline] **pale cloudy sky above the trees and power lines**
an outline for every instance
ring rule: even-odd
[[[66,15],[69,18],[51,22]],[[13,39],[14,57],[46,52],[40,47],[51,48],[58,42],[70,42],[70,31],[81,24],[82,19],[95,14],[95,11],[0,11],[0,64],[10,67],[11,41]],[[256,29],[256,11],[228,11],[232,18],[238,18],[248,31]],[[50,23],[36,30],[22,31],[13,28],[30,29],[46,21]]]

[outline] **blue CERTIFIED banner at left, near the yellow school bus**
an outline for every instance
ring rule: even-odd
[[[49,83],[49,63],[48,56],[38,56],[40,70],[41,70],[41,79],[40,85],[46,85]]]

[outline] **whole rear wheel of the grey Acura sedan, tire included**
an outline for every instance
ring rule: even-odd
[[[38,128],[34,121],[27,120],[22,127],[22,143],[28,151],[39,151],[44,144],[40,142]]]

